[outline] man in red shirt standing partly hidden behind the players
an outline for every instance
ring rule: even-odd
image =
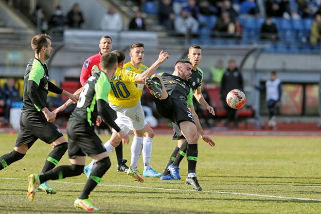
[[[84,62],[84,65],[81,69],[81,74],[80,74],[80,83],[82,86],[85,85],[87,78],[93,74],[94,68],[97,69],[97,67],[98,68],[100,67],[99,63],[100,63],[100,57],[102,56],[102,54],[111,52],[112,39],[110,36],[102,36],[100,38],[99,49],[100,49],[100,52],[98,54],[90,56]],[[109,106],[108,108],[110,109]],[[112,112],[112,113],[113,113],[112,115],[116,117],[116,113],[115,112]],[[117,156],[117,171],[127,172],[129,167],[125,164],[127,160],[123,159],[123,143],[120,143],[119,146],[116,147],[115,152]]]

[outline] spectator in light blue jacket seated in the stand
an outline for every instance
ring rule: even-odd
[[[180,16],[174,20],[174,27],[178,36],[197,36],[198,26],[198,21],[185,9],[182,9]]]

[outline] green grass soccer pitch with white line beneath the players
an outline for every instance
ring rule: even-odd
[[[212,136],[216,146],[199,140],[196,174],[203,188],[196,192],[185,184],[187,161],[180,165],[179,181],[145,178],[143,183],[111,168],[91,193],[95,213],[112,214],[320,214],[320,137]],[[103,142],[108,135],[102,135]],[[132,139],[132,136],[130,136]],[[0,155],[12,151],[16,135],[0,134]],[[176,142],[158,135],[151,164],[162,172]],[[87,177],[50,181],[58,192],[38,192],[29,202],[28,176],[41,171],[51,146],[37,141],[23,160],[0,171],[0,213],[84,213],[73,208]],[[130,162],[130,144],[124,145]],[[87,158],[89,163],[90,158]],[[65,154],[59,162],[69,164]],[[143,171],[141,158],[139,169]]]

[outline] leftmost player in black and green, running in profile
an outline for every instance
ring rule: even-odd
[[[50,36],[46,34],[34,36],[31,40],[31,47],[35,56],[28,62],[24,75],[23,107],[16,146],[12,152],[0,157],[0,170],[22,159],[37,139],[41,139],[54,148],[49,153],[41,173],[53,169],[67,151],[66,139],[53,124],[56,114],[46,107],[47,94],[48,91],[62,94],[74,102],[77,102],[78,98],[68,91],[58,88],[49,80],[45,61],[49,59],[53,50]],[[47,182],[39,183],[39,185],[41,191],[49,194],[56,193],[56,190],[50,188]]]

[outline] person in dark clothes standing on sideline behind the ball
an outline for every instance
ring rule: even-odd
[[[243,91],[243,78],[240,71],[238,71],[236,67],[236,63],[234,59],[229,60],[229,68],[224,72],[221,81],[220,87],[220,96],[221,100],[224,104],[224,107],[227,111],[227,122],[226,126],[230,127],[234,123],[234,127],[238,126],[238,120],[236,115],[236,109],[231,108],[226,103],[226,95],[232,89],[239,89]]]

